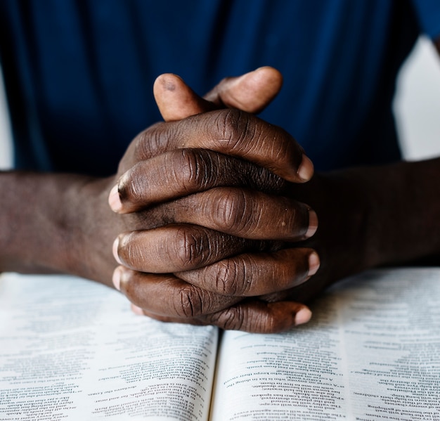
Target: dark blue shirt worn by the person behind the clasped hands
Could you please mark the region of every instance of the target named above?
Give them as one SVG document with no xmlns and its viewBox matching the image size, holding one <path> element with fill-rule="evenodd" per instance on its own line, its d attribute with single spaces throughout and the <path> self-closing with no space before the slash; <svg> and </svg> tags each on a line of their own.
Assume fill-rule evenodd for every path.
<svg viewBox="0 0 440 421">
<path fill-rule="evenodd" d="M 440 1 L 2 0 L 15 164 L 115 173 L 160 119 L 157 75 L 202 94 L 262 65 L 285 83 L 261 117 L 318 170 L 399 160 L 394 84 L 420 32 L 440 35 Z"/>
</svg>

